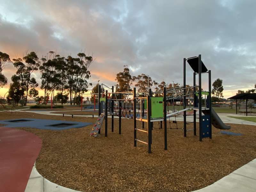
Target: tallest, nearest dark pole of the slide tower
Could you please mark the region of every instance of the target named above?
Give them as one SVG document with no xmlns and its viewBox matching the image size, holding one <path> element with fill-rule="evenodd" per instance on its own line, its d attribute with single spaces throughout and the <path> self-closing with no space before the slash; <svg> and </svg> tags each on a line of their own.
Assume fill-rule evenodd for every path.
<svg viewBox="0 0 256 192">
<path fill-rule="evenodd" d="M 198 98 L 198 109 L 199 109 L 199 140 L 202 141 L 202 62 L 201 55 L 198 55 L 198 88 L 199 88 L 199 98 Z"/>
</svg>

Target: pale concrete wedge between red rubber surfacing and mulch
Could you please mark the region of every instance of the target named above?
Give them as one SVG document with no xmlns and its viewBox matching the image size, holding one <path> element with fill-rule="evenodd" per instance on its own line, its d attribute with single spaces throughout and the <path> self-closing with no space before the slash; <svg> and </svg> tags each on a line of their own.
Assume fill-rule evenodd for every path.
<svg viewBox="0 0 256 192">
<path fill-rule="evenodd" d="M 62 187 L 45 179 L 36 170 L 36 163 L 33 166 L 25 192 L 79 192 L 73 189 Z"/>
</svg>

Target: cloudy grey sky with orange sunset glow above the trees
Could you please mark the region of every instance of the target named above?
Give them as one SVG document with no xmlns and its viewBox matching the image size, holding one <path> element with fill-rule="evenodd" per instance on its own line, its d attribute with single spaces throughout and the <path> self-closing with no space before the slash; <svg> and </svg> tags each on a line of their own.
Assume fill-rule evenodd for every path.
<svg viewBox="0 0 256 192">
<path fill-rule="evenodd" d="M 223 79 L 225 98 L 256 83 L 254 0 L 0 2 L 0 51 L 12 59 L 26 51 L 42 57 L 85 50 L 96 58 L 89 81 L 111 86 L 124 65 L 132 75 L 182 84 L 183 58 L 202 54 L 212 81 Z M 3 70 L 8 83 L 14 73 L 12 64 Z"/>
</svg>

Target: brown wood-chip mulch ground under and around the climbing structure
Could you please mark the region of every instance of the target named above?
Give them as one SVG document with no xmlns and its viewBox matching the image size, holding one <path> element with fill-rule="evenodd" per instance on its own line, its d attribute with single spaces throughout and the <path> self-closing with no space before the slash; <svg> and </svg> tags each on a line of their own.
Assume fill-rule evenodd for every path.
<svg viewBox="0 0 256 192">
<path fill-rule="evenodd" d="M 1 113 L 0 119 L 56 119 L 95 123 L 92 117 L 49 116 L 17 112 Z M 62 131 L 20 128 L 43 140 L 36 168 L 46 179 L 80 191 L 193 191 L 206 187 L 256 158 L 256 126 L 230 124 L 232 132 L 242 136 L 220 134 L 212 128 L 212 140 L 203 139 L 182 129 L 168 129 L 168 150 L 164 150 L 164 130 L 154 129 L 152 154 L 147 145 L 133 147 L 133 120 L 108 119 L 108 137 L 89 136 L 92 126 Z M 104 133 L 104 121 L 102 132 Z M 183 122 L 178 122 L 182 127 Z M 173 128 L 175 124 L 171 123 Z M 137 121 L 137 127 L 141 123 Z M 158 124 L 154 123 L 158 128 Z M 168 122 L 169 128 L 169 122 Z M 188 129 L 192 128 L 188 124 Z M 147 134 L 138 132 L 138 139 L 147 141 Z"/>
</svg>

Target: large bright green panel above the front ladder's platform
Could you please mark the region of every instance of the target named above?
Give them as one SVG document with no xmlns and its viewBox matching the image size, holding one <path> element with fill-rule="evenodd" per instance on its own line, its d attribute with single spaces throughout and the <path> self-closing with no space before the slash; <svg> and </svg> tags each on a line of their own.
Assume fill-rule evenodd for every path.
<svg viewBox="0 0 256 192">
<path fill-rule="evenodd" d="M 151 118 L 164 117 L 163 97 L 151 97 Z"/>
</svg>

